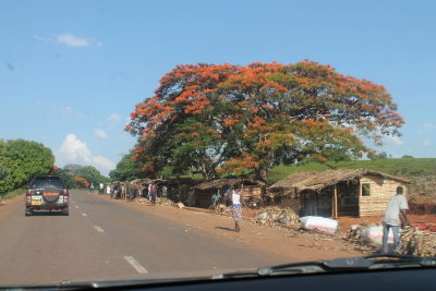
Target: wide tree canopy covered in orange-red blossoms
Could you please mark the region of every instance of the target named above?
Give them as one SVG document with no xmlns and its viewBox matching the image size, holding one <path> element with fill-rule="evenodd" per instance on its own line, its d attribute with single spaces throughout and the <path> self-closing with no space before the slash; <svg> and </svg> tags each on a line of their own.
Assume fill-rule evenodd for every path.
<svg viewBox="0 0 436 291">
<path fill-rule="evenodd" d="M 193 167 L 211 179 L 253 169 L 266 181 L 272 165 L 326 162 L 331 149 L 372 153 L 360 137 L 380 145 L 383 135 L 400 135 L 396 111 L 384 86 L 308 60 L 198 63 L 164 75 L 126 131 L 138 136 L 133 158 L 146 174 Z"/>
</svg>

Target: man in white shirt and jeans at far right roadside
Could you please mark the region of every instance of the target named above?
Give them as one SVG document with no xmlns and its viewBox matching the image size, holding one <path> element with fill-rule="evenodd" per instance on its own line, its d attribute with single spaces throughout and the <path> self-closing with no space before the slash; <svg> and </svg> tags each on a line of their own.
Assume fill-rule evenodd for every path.
<svg viewBox="0 0 436 291">
<path fill-rule="evenodd" d="M 383 246 L 382 254 L 388 253 L 388 235 L 389 229 L 393 232 L 393 252 L 400 244 L 400 223 L 410 225 L 405 210 L 409 209 L 408 201 L 402 196 L 402 186 L 397 187 L 397 194 L 390 197 L 388 207 L 382 220 L 383 223 Z"/>
</svg>

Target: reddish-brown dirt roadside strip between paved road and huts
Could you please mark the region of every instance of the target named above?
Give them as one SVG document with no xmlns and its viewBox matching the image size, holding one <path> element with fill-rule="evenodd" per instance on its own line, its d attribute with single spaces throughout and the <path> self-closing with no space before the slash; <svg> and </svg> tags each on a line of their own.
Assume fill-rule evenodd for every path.
<svg viewBox="0 0 436 291">
<path fill-rule="evenodd" d="M 94 194 L 98 195 L 98 194 Z M 101 198 L 110 199 L 108 195 Z M 243 243 L 259 251 L 274 252 L 292 260 L 319 260 L 337 257 L 353 257 L 368 255 L 372 252 L 354 244 L 346 243 L 340 234 L 327 234 L 319 231 L 298 231 L 295 229 L 280 227 L 278 223 L 259 226 L 251 221 L 257 210 L 243 210 L 244 221 L 241 232 L 235 232 L 234 220 L 230 215 L 220 215 L 211 210 L 184 207 L 182 209 L 170 206 L 152 206 L 149 203 L 136 203 L 121 199 L 112 199 L 113 203 L 153 213 L 165 217 L 190 229 L 201 230 L 208 235 L 221 237 L 237 243 Z"/>
</svg>

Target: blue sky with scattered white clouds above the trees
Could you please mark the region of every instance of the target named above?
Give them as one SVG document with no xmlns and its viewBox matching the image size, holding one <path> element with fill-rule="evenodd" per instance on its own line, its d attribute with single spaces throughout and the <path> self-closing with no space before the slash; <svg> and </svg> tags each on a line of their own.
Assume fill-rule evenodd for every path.
<svg viewBox="0 0 436 291">
<path fill-rule="evenodd" d="M 178 64 L 330 64 L 384 85 L 405 124 L 375 147 L 436 157 L 436 1 L 2 1 L 0 138 L 108 175 L 123 129 Z"/>
</svg>

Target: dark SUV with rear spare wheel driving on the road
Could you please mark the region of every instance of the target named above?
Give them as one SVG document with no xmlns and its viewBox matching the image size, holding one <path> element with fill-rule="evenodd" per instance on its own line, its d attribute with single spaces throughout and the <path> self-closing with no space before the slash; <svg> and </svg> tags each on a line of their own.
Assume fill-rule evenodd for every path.
<svg viewBox="0 0 436 291">
<path fill-rule="evenodd" d="M 35 210 L 62 210 L 69 215 L 70 193 L 62 178 L 58 175 L 35 177 L 26 192 L 25 216 Z"/>
</svg>

